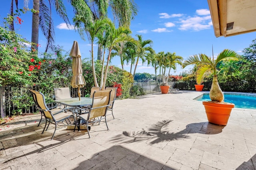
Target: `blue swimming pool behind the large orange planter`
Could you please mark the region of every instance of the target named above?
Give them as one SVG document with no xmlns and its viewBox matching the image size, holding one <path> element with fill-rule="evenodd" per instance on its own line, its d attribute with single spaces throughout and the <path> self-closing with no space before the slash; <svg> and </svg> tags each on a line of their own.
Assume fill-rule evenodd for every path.
<svg viewBox="0 0 256 170">
<path fill-rule="evenodd" d="M 210 101 L 210 96 L 205 93 L 194 100 Z M 233 103 L 236 108 L 256 109 L 256 96 L 253 95 L 224 93 L 224 102 Z"/>
</svg>

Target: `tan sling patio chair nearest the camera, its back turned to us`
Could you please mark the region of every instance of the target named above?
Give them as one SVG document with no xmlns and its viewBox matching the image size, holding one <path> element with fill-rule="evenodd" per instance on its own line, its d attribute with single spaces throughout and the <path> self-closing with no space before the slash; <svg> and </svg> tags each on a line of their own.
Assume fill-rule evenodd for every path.
<svg viewBox="0 0 256 170">
<path fill-rule="evenodd" d="M 77 119 L 82 119 L 84 120 L 86 124 L 86 129 L 88 129 L 88 135 L 90 138 L 90 133 L 88 128 L 88 124 L 93 124 L 97 121 L 100 122 L 100 120 L 105 119 L 106 126 L 108 129 L 108 124 L 106 120 L 106 113 L 108 111 L 108 106 L 110 106 L 110 93 L 112 90 L 100 90 L 100 91 L 94 91 L 92 95 L 92 106 L 88 107 L 88 114 L 82 114 L 78 115 Z M 100 119 L 94 120 L 94 118 L 100 117 Z M 76 119 L 76 122 L 77 122 Z M 76 127 L 75 127 L 76 128 Z"/>
</svg>

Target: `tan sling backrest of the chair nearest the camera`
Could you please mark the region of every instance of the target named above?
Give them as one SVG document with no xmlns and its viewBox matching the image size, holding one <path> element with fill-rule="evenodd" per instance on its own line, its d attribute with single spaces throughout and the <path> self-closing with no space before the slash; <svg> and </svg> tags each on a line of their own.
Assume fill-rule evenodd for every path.
<svg viewBox="0 0 256 170">
<path fill-rule="evenodd" d="M 94 91 L 92 97 L 92 107 L 88 114 L 88 120 L 99 116 L 105 116 L 110 102 L 110 92 L 112 90 Z"/>
</svg>

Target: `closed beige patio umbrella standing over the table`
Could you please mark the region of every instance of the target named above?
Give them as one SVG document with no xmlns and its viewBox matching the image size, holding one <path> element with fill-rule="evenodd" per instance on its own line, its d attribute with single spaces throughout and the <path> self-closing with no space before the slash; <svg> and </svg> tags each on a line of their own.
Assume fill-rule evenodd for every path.
<svg viewBox="0 0 256 170">
<path fill-rule="evenodd" d="M 73 61 L 72 61 L 73 76 L 71 79 L 71 86 L 72 88 L 78 88 L 78 97 L 79 97 L 79 100 L 81 100 L 80 88 L 84 87 L 84 85 L 86 85 L 86 82 L 82 75 L 83 69 L 82 69 L 81 53 L 80 53 L 77 41 L 74 41 L 69 55 L 73 57 Z"/>
</svg>

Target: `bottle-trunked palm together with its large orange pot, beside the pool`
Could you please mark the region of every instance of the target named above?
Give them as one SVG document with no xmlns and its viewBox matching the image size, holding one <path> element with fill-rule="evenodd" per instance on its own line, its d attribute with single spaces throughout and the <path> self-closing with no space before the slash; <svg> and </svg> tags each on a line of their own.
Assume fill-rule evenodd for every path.
<svg viewBox="0 0 256 170">
<path fill-rule="evenodd" d="M 199 54 L 190 56 L 183 63 L 183 68 L 190 64 L 200 65 L 196 72 L 197 84 L 202 82 L 203 76 L 207 71 L 212 71 L 213 73 L 212 86 L 209 94 L 211 101 L 203 102 L 206 115 L 210 123 L 216 125 L 227 125 L 231 110 L 234 108 L 234 104 L 224 102 L 224 94 L 218 84 L 216 65 L 220 61 L 238 59 L 239 55 L 235 51 L 224 49 L 218 54 L 216 59 L 214 59 L 214 57 L 208 57 L 205 54 Z"/>
</svg>

